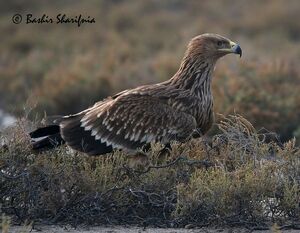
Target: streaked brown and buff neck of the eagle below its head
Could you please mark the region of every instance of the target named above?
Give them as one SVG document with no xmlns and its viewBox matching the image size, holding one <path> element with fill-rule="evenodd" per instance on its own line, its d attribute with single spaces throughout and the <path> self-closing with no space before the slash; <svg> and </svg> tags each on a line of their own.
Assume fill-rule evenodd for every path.
<svg viewBox="0 0 300 233">
<path fill-rule="evenodd" d="M 190 90 L 198 97 L 211 96 L 211 80 L 215 62 L 184 57 L 176 74 L 169 80 L 176 88 Z"/>
</svg>

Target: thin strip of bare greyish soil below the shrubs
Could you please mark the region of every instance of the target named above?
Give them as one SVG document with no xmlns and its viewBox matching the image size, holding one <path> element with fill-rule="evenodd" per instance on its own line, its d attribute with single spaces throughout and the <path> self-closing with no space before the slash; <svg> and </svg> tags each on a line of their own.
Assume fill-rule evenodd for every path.
<svg viewBox="0 0 300 233">
<path fill-rule="evenodd" d="M 43 233 L 246 233 L 246 232 L 276 232 L 273 230 L 267 231 L 250 231 L 248 229 L 233 228 L 233 229 L 215 229 L 215 228 L 201 228 L 201 229 L 161 229 L 161 228 L 140 228 L 140 227 L 80 227 L 72 228 L 68 226 L 36 226 L 36 229 L 13 226 L 9 229 L 9 233 L 25 233 L 25 232 L 43 232 Z M 280 231 L 279 231 L 280 232 Z M 298 230 L 282 230 L 285 233 L 297 233 Z"/>
</svg>

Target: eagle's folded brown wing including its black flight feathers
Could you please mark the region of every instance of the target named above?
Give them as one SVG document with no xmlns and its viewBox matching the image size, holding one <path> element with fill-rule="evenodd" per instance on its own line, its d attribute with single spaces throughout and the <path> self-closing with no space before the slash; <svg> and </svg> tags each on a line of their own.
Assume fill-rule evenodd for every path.
<svg viewBox="0 0 300 233">
<path fill-rule="evenodd" d="M 193 116 L 173 109 L 165 100 L 138 93 L 109 99 L 61 123 L 67 144 L 90 155 L 185 139 L 195 128 Z"/>
</svg>

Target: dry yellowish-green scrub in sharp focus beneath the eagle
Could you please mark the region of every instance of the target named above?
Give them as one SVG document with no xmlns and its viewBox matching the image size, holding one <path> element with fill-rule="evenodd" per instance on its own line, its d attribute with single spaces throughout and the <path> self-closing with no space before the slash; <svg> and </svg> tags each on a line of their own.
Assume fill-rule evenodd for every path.
<svg viewBox="0 0 300 233">
<path fill-rule="evenodd" d="M 33 154 L 23 128 L 13 129 L 0 153 L 1 212 L 15 223 L 299 227 L 295 141 L 265 142 L 238 115 L 219 128 L 210 143 L 173 144 L 166 158 L 153 145 L 150 166 L 140 170 L 122 152 L 87 157 L 60 147 Z"/>
</svg>

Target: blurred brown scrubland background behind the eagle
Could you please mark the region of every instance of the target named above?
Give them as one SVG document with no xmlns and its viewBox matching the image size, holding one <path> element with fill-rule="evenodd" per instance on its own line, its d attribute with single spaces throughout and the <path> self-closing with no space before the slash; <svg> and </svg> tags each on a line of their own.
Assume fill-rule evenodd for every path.
<svg viewBox="0 0 300 233">
<path fill-rule="evenodd" d="M 14 24 L 16 13 L 96 23 Z M 189 40 L 240 43 L 215 70 L 215 112 L 239 113 L 283 140 L 300 139 L 298 0 L 0 1 L 0 124 L 70 114 L 126 88 L 169 79 Z"/>
</svg>

